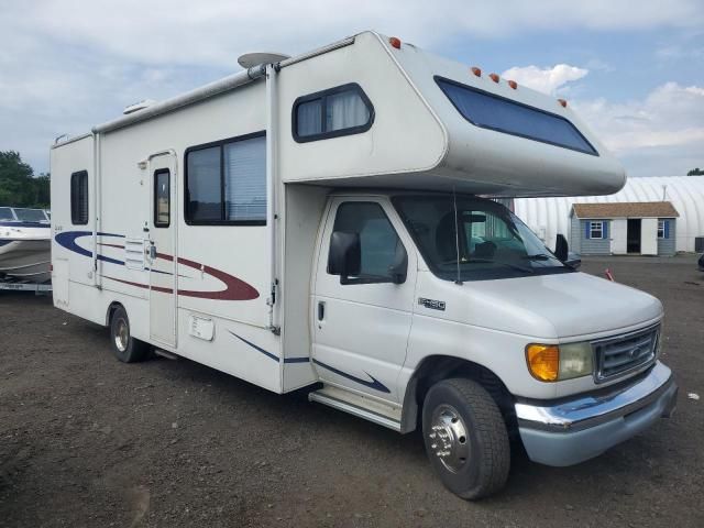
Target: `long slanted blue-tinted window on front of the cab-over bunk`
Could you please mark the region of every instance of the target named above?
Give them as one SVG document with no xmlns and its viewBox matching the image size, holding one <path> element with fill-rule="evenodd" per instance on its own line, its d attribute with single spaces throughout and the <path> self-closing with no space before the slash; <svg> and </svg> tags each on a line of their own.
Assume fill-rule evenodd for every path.
<svg viewBox="0 0 704 528">
<path fill-rule="evenodd" d="M 476 127 L 598 156 L 576 127 L 561 116 L 442 77 L 436 77 L 436 82 Z"/>
</svg>

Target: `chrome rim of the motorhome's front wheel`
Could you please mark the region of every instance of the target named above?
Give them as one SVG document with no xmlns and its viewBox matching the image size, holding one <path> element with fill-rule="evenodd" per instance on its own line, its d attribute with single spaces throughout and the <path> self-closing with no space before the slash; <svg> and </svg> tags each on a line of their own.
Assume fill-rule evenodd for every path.
<svg viewBox="0 0 704 528">
<path fill-rule="evenodd" d="M 462 416 L 451 405 L 442 404 L 436 407 L 430 424 L 430 454 L 448 471 L 459 472 L 470 461 L 470 436 Z"/>
</svg>

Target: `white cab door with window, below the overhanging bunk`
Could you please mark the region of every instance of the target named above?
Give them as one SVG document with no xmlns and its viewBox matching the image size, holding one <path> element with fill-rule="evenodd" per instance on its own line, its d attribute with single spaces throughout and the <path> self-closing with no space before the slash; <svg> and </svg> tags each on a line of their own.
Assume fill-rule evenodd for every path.
<svg viewBox="0 0 704 528">
<path fill-rule="evenodd" d="M 399 402 L 397 378 L 410 333 L 417 264 L 415 253 L 407 251 L 406 279 L 392 282 L 389 266 L 413 246 L 387 208 L 337 199 L 329 210 L 312 295 L 312 360 L 323 382 Z M 360 234 L 361 273 L 349 284 L 328 273 L 333 230 Z"/>
</svg>

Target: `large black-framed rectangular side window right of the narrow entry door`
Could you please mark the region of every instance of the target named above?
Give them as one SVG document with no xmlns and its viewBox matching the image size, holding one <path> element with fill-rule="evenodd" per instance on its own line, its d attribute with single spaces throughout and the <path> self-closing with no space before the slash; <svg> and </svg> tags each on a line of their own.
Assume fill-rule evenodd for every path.
<svg viewBox="0 0 704 528">
<path fill-rule="evenodd" d="M 264 133 L 195 146 L 186 151 L 186 223 L 266 223 L 266 138 Z"/>
</svg>

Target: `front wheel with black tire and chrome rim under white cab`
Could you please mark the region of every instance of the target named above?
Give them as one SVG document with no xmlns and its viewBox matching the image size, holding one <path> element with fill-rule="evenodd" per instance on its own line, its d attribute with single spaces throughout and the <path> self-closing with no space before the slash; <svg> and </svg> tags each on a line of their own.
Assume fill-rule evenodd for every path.
<svg viewBox="0 0 704 528">
<path fill-rule="evenodd" d="M 475 499 L 504 487 L 510 468 L 508 431 L 480 384 L 453 378 L 430 387 L 422 433 L 430 463 L 452 493 Z"/>
</svg>

